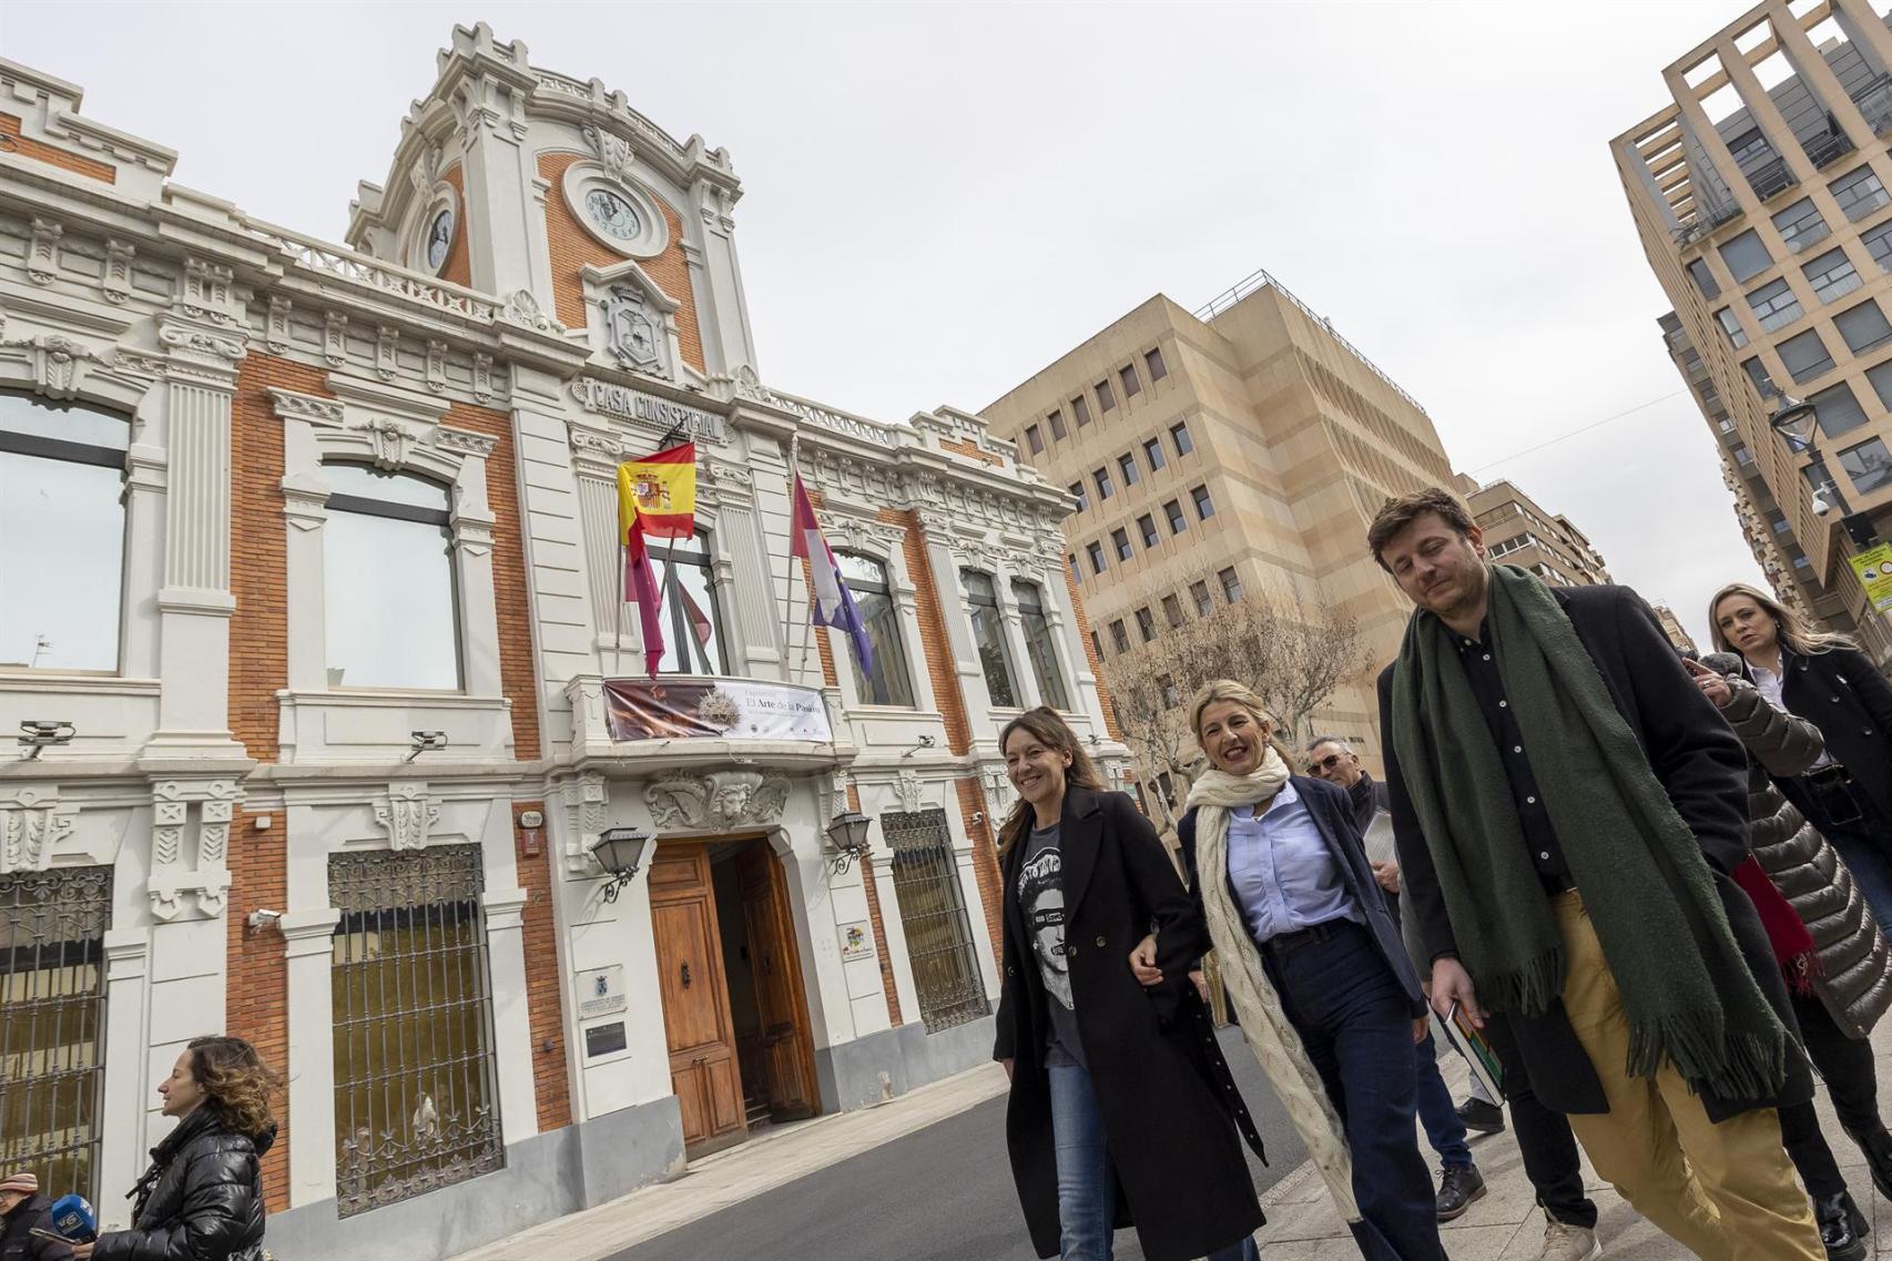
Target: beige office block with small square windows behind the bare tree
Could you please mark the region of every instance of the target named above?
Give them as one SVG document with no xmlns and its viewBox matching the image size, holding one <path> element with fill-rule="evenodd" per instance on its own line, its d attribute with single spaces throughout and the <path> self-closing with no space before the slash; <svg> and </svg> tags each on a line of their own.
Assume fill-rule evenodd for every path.
<svg viewBox="0 0 1892 1261">
<path fill-rule="evenodd" d="M 1366 526 L 1453 471 L 1425 409 L 1324 318 L 1268 273 L 1194 314 L 1158 293 L 984 415 L 1077 500 L 1067 560 L 1103 657 L 1247 591 L 1341 608 L 1372 665 L 1313 721 L 1377 754 L 1372 680 L 1410 604 Z"/>
</svg>

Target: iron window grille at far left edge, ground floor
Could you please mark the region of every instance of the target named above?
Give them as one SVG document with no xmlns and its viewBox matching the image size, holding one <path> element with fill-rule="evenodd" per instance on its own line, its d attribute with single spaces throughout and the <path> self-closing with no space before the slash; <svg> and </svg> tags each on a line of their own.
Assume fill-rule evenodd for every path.
<svg viewBox="0 0 1892 1261">
<path fill-rule="evenodd" d="M 0 877 L 0 1170 L 98 1200 L 112 869 Z"/>
</svg>

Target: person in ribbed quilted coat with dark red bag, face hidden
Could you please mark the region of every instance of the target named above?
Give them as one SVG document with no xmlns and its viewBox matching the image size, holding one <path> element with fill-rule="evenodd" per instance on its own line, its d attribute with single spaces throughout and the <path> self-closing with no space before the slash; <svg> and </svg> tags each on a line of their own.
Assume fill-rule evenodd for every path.
<svg viewBox="0 0 1892 1261">
<path fill-rule="evenodd" d="M 1748 892 L 1756 894 L 1775 952 L 1788 969 L 1801 1041 L 1826 1079 L 1839 1123 L 1866 1153 L 1873 1183 L 1892 1195 L 1892 1134 L 1879 1119 L 1879 1079 L 1867 1041 L 1879 1017 L 1892 1007 L 1892 950 L 1852 871 L 1778 782 L 1813 767 L 1824 738 L 1811 721 L 1761 695 L 1735 653 L 1710 653 L 1701 665 L 1690 663 L 1690 672 L 1748 752 L 1754 860 L 1773 886 Z M 1741 875 L 1735 873 L 1737 880 Z M 1792 909 L 1794 922 L 1784 928 L 1778 918 L 1786 918 L 1786 907 L 1778 909 L 1778 918 L 1769 918 L 1778 907 L 1769 897 L 1773 892 Z M 1782 1108 L 1780 1132 L 1814 1200 L 1828 1255 L 1864 1257 L 1871 1234 L 1813 1106 Z"/>
</svg>

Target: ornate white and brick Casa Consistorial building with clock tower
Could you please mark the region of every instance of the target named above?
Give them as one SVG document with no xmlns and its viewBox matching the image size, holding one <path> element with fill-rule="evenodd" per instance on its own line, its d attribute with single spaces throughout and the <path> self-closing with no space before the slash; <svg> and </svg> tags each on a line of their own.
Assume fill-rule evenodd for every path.
<svg viewBox="0 0 1892 1261">
<path fill-rule="evenodd" d="M 1069 502 L 976 415 L 764 384 L 723 150 L 456 28 L 322 242 L 0 85 L 0 1164 L 123 1225 L 233 1032 L 274 1252 L 426 1259 L 990 1057 L 997 729 L 1126 767 Z M 651 680 L 613 475 L 679 435 Z"/>
</svg>

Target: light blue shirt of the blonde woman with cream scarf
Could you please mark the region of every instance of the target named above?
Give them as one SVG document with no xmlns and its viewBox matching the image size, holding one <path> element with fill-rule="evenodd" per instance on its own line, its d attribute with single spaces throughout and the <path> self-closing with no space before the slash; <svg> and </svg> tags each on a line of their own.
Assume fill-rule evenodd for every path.
<svg viewBox="0 0 1892 1261">
<path fill-rule="evenodd" d="M 1228 812 L 1228 879 L 1256 941 L 1362 918 L 1294 784 L 1283 784 L 1260 818 L 1254 807 Z"/>
</svg>

